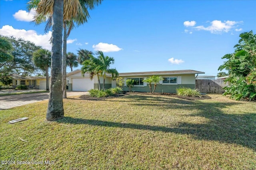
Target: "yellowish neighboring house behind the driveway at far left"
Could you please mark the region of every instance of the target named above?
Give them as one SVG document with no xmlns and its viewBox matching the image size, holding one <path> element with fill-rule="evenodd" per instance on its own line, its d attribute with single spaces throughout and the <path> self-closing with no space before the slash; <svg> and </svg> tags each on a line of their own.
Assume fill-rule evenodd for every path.
<svg viewBox="0 0 256 170">
<path fill-rule="evenodd" d="M 10 78 L 12 79 L 11 85 L 14 88 L 18 85 L 26 85 L 29 88 L 46 89 L 46 76 L 21 76 L 13 74 Z"/>
</svg>

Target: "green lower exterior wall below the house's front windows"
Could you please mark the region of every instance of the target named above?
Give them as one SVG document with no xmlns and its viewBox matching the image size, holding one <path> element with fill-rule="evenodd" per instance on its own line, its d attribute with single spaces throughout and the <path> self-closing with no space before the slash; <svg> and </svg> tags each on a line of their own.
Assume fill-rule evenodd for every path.
<svg viewBox="0 0 256 170">
<path fill-rule="evenodd" d="M 156 85 L 156 93 L 176 93 L 176 89 L 179 87 L 186 87 L 186 88 L 195 88 L 195 84 L 176 84 L 176 85 L 162 85 L 162 84 L 157 84 Z M 129 87 L 124 86 L 123 88 L 124 91 L 129 91 Z M 154 90 L 154 84 L 152 84 L 152 91 Z M 149 85 L 144 87 L 132 87 L 132 91 L 135 92 L 150 92 Z"/>
</svg>

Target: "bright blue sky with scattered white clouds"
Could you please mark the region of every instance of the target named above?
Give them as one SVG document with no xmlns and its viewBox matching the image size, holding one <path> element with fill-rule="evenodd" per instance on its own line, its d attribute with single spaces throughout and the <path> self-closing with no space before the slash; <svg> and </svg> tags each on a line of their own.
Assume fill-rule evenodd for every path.
<svg viewBox="0 0 256 170">
<path fill-rule="evenodd" d="M 0 34 L 50 49 L 51 31 L 30 23 L 34 12 L 28 13 L 27 2 L 0 0 Z M 105 0 L 90 17 L 72 30 L 67 51 L 102 50 L 114 57 L 118 72 L 191 69 L 216 76 L 239 34 L 256 33 L 253 0 Z"/>
</svg>

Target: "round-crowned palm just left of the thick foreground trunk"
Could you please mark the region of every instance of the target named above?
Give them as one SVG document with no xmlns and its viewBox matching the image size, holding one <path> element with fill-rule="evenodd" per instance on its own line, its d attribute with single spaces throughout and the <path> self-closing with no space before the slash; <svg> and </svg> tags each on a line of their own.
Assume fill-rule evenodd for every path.
<svg viewBox="0 0 256 170">
<path fill-rule="evenodd" d="M 51 66 L 51 52 L 46 49 L 39 49 L 33 53 L 33 62 L 46 74 L 46 90 L 49 90 L 49 67 Z"/>
</svg>

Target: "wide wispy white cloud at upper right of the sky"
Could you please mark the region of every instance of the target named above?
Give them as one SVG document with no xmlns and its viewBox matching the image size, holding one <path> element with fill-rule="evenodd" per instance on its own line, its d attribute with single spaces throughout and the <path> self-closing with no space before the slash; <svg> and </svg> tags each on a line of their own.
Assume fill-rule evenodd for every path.
<svg viewBox="0 0 256 170">
<path fill-rule="evenodd" d="M 204 27 L 203 25 L 195 27 L 198 30 L 206 30 L 210 31 L 211 33 L 222 33 L 222 32 L 229 32 L 235 25 L 243 23 L 243 21 L 218 21 L 214 20 L 211 22 L 211 25 L 208 27 Z"/>
</svg>

